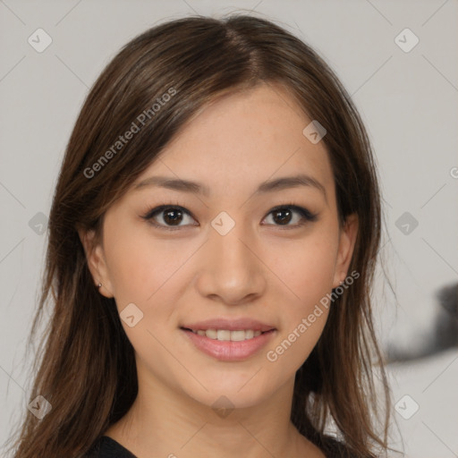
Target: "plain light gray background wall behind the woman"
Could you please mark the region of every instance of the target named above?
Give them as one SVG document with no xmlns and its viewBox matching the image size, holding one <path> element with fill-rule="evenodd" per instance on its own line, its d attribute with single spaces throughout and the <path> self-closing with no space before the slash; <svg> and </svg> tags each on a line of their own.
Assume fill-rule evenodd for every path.
<svg viewBox="0 0 458 458">
<path fill-rule="evenodd" d="M 64 148 L 98 74 L 127 41 L 193 13 L 253 11 L 325 57 L 360 110 L 385 199 L 386 270 L 377 332 L 385 348 L 428 344 L 434 294 L 457 281 L 458 3 L 439 1 L 0 1 L 0 441 L 27 408 L 33 354 L 25 341 L 39 292 L 46 218 Z M 38 53 L 38 28 L 52 43 Z M 409 28 L 410 52 L 395 42 Z M 404 34 L 405 35 L 405 34 Z M 401 39 L 409 46 L 412 41 Z M 41 43 L 43 41 L 41 40 Z M 399 220 L 414 218 L 406 232 Z M 406 217 L 406 216 L 403 216 Z M 397 224 L 396 224 L 397 222 Z M 399 227 L 398 227 L 399 226 Z M 401 228 L 400 228 L 401 227 Z M 458 351 L 390 364 L 406 456 L 458 456 Z M 408 398 L 403 398 L 404 395 Z M 419 410 L 409 420 L 404 417 Z M 400 408 L 401 407 L 401 408 Z M 407 413 L 406 413 L 407 412 Z M 402 447 L 399 437 L 393 445 Z"/>
</svg>

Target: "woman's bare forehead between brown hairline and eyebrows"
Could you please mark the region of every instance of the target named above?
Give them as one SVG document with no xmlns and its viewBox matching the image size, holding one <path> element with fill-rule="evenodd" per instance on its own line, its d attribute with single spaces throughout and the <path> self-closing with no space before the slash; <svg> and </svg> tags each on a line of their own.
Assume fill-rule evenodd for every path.
<svg viewBox="0 0 458 458">
<path fill-rule="evenodd" d="M 269 178 L 308 174 L 331 192 L 325 144 L 302 133 L 310 122 L 278 85 L 225 95 L 204 106 L 137 183 L 160 174 L 201 182 L 221 197 L 229 190 L 250 193 Z"/>
</svg>

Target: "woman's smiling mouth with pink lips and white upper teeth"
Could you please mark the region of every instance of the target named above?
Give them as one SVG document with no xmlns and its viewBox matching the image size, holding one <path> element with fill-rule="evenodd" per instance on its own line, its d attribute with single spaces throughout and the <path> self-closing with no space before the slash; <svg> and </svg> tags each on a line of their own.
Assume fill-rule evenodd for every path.
<svg viewBox="0 0 458 458">
<path fill-rule="evenodd" d="M 275 327 L 247 320 L 213 320 L 180 329 L 194 348 L 222 361 L 247 360 L 276 335 Z"/>
</svg>

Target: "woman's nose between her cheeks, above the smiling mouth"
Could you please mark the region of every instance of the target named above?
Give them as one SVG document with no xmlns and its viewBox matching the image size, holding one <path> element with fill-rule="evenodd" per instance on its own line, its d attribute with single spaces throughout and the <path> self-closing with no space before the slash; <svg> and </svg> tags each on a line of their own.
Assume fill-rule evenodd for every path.
<svg viewBox="0 0 458 458">
<path fill-rule="evenodd" d="M 199 250 L 199 293 L 228 305 L 260 297 L 267 286 L 267 268 L 242 225 L 234 225 L 225 235 L 211 228 L 208 237 L 204 250 Z"/>
</svg>

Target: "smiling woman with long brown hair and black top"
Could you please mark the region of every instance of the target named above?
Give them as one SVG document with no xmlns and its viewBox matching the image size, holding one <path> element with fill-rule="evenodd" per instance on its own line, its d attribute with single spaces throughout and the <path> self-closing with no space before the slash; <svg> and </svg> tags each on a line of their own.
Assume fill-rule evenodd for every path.
<svg viewBox="0 0 458 458">
<path fill-rule="evenodd" d="M 66 150 L 14 456 L 385 454 L 380 220 L 360 116 L 301 40 L 246 15 L 134 38 Z"/>
</svg>

